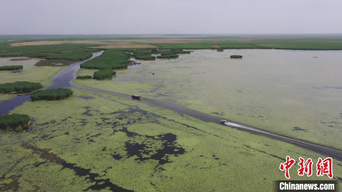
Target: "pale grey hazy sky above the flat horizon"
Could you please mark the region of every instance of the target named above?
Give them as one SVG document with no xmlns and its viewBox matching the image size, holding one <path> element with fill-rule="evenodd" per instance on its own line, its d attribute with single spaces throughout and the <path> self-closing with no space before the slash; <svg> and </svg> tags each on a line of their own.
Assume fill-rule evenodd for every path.
<svg viewBox="0 0 342 192">
<path fill-rule="evenodd" d="M 342 0 L 0 0 L 0 35 L 342 33 Z"/>
</svg>

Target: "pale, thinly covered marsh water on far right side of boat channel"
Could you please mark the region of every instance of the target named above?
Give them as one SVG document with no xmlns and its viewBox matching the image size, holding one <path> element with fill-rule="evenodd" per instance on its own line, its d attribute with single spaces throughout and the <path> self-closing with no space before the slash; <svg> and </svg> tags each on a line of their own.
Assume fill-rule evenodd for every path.
<svg viewBox="0 0 342 192">
<path fill-rule="evenodd" d="M 229 59 L 235 54 L 243 59 Z M 341 57 L 342 51 L 193 50 L 176 60 L 139 61 L 111 81 L 76 83 L 175 102 L 342 149 Z"/>
</svg>

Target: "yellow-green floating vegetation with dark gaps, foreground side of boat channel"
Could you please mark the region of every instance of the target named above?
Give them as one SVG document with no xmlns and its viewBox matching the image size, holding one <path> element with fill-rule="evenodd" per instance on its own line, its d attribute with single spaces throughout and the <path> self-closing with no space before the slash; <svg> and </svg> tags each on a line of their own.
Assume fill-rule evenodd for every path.
<svg viewBox="0 0 342 192">
<path fill-rule="evenodd" d="M 26 102 L 13 111 L 35 121 L 27 131 L 0 134 L 0 190 L 259 192 L 284 179 L 278 167 L 286 155 L 320 156 L 141 102 L 73 91 L 94 99 Z M 341 177 L 338 164 L 334 176 Z M 327 179 L 300 177 L 294 168 L 290 174 Z"/>
</svg>

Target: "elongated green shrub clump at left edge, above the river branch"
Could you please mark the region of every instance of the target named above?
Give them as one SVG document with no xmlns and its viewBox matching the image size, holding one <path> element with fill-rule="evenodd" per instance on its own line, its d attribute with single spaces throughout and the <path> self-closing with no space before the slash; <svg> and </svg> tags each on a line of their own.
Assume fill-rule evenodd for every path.
<svg viewBox="0 0 342 192">
<path fill-rule="evenodd" d="M 0 93 L 12 93 L 12 92 L 30 93 L 42 87 L 43 86 L 40 83 L 17 81 L 15 83 L 0 84 Z"/>
</svg>

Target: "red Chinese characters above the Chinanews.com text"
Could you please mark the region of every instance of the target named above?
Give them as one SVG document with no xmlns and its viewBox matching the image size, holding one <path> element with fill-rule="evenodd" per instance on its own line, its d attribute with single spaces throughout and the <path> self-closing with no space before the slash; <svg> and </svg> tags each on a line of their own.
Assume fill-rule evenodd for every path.
<svg viewBox="0 0 342 192">
<path fill-rule="evenodd" d="M 286 162 L 280 164 L 279 169 L 280 171 L 285 171 L 285 177 L 287 179 L 290 179 L 289 170 L 295 163 L 296 161 L 294 159 L 286 156 Z M 299 157 L 298 165 L 299 169 L 297 171 L 299 176 L 303 176 L 304 174 L 306 174 L 308 177 L 310 177 L 312 175 L 312 159 L 308 158 L 305 161 L 305 159 Z M 333 159 L 331 157 L 327 157 L 323 160 L 319 158 L 316 164 L 316 171 L 317 176 L 327 175 L 329 178 L 333 178 Z"/>
</svg>

